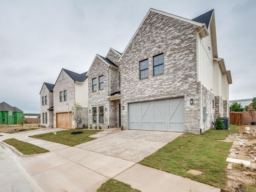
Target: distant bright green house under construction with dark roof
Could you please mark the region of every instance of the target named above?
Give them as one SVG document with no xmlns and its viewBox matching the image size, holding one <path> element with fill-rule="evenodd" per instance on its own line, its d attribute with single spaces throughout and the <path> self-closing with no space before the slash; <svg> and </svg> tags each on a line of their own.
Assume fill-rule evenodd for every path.
<svg viewBox="0 0 256 192">
<path fill-rule="evenodd" d="M 0 124 L 17 124 L 17 120 L 23 116 L 23 111 L 17 107 L 2 102 L 0 103 Z"/>
</svg>

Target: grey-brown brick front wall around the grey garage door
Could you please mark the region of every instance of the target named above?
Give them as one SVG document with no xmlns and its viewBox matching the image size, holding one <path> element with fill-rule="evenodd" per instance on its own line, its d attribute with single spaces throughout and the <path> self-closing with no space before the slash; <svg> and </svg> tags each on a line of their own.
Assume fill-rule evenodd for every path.
<svg viewBox="0 0 256 192">
<path fill-rule="evenodd" d="M 153 76 L 153 56 L 164 53 L 164 74 Z M 139 61 L 148 58 L 147 79 Z M 200 94 L 196 76 L 196 26 L 150 12 L 119 62 L 121 124 L 128 128 L 128 103 L 184 96 L 185 131 L 200 132 Z M 193 98 L 194 104 L 190 105 Z"/>
</svg>

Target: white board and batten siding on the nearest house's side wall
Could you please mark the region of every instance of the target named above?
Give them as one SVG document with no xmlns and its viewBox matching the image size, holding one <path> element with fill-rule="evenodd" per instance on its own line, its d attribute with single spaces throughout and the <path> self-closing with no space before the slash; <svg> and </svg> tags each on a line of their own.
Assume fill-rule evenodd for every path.
<svg viewBox="0 0 256 192">
<path fill-rule="evenodd" d="M 213 90 L 213 55 L 211 29 L 208 28 L 209 36 L 200 38 L 197 36 L 197 81 L 209 91 Z M 210 47 L 210 50 L 209 50 Z"/>
</svg>

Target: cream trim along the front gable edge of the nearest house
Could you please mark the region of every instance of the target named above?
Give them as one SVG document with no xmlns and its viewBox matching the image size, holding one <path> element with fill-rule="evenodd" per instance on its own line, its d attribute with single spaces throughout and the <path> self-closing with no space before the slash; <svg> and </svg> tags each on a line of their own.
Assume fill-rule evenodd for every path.
<svg viewBox="0 0 256 192">
<path fill-rule="evenodd" d="M 126 46 L 126 48 L 124 49 L 124 52 L 127 50 L 127 48 L 129 47 L 129 45 L 131 44 L 133 38 L 135 37 L 135 35 L 137 34 L 137 32 L 139 31 L 140 27 L 142 26 L 142 24 L 144 23 L 144 21 L 146 20 L 146 18 L 148 17 L 149 13 L 150 12 L 156 12 L 156 13 L 159 13 L 159 14 L 162 14 L 162 15 L 165 15 L 165 16 L 168 16 L 168 17 L 171 17 L 171 18 L 174 18 L 174 19 L 178 19 L 178 20 L 181 20 L 181 21 L 184 21 L 184 22 L 188 22 L 188 23 L 191 23 L 193 25 L 196 25 L 198 27 L 202 27 L 202 31 L 204 31 L 205 33 L 205 36 L 208 36 L 209 35 L 209 32 L 207 30 L 207 27 L 204 23 L 200 23 L 200 22 L 197 22 L 197 21 L 194 21 L 194 20 L 190 20 L 190 19 L 186 19 L 184 17 L 180 17 L 180 16 L 177 16 L 177 15 L 173 15 L 173 14 L 170 14 L 170 13 L 166 13 L 166 12 L 163 12 L 163 11 L 159 11 L 159 10 L 156 10 L 156 9 L 152 9 L 150 8 L 147 15 L 144 17 L 144 19 L 142 20 L 142 22 L 140 23 L 140 26 L 138 27 L 138 29 L 136 30 L 136 32 L 134 33 L 134 35 L 132 36 L 132 39 L 130 40 L 130 42 L 128 43 L 128 45 Z M 124 55 L 124 52 L 122 53 L 122 55 L 120 56 L 118 62 L 122 59 L 123 55 Z"/>
</svg>

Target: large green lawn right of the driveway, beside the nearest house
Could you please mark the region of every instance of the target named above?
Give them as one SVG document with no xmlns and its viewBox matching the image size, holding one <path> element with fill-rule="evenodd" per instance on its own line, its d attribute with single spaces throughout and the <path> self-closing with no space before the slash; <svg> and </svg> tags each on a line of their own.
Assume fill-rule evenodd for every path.
<svg viewBox="0 0 256 192">
<path fill-rule="evenodd" d="M 139 163 L 223 188 L 227 181 L 226 158 L 232 143 L 218 140 L 224 140 L 228 133 L 213 129 L 202 135 L 184 133 Z M 203 173 L 193 175 L 187 173 L 189 169 Z"/>
</svg>

